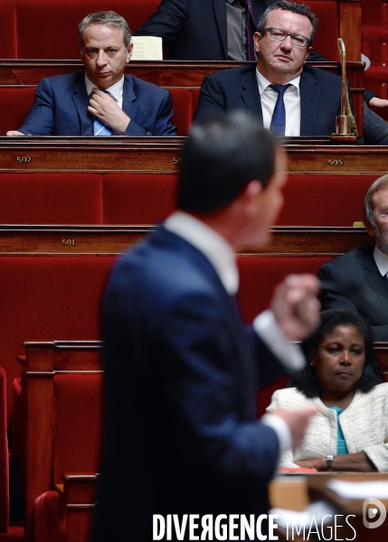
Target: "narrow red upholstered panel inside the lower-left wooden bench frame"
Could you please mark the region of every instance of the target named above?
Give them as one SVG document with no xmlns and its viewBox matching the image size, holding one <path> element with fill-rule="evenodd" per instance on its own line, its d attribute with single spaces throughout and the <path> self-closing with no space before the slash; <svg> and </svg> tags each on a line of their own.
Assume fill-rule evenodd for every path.
<svg viewBox="0 0 388 542">
<path fill-rule="evenodd" d="M 99 472 L 103 375 L 54 377 L 53 479 L 63 473 Z"/>
</svg>

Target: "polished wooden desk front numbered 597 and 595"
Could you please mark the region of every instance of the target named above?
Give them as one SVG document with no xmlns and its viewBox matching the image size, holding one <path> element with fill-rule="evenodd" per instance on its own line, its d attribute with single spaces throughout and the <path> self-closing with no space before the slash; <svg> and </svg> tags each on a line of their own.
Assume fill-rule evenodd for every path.
<svg viewBox="0 0 388 542">
<path fill-rule="evenodd" d="M 184 137 L 0 137 L 0 172 L 177 173 Z M 287 172 L 387 172 L 388 145 L 336 145 L 328 137 L 285 140 Z"/>
</svg>

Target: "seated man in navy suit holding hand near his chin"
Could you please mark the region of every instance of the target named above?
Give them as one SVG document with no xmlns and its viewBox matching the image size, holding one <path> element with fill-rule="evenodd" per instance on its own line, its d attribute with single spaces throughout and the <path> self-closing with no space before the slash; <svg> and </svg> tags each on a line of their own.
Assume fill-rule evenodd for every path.
<svg viewBox="0 0 388 542">
<path fill-rule="evenodd" d="M 7 135 L 176 135 L 168 90 L 124 75 L 133 44 L 123 17 L 87 15 L 79 40 L 86 73 L 43 79 L 23 126 Z"/>
</svg>

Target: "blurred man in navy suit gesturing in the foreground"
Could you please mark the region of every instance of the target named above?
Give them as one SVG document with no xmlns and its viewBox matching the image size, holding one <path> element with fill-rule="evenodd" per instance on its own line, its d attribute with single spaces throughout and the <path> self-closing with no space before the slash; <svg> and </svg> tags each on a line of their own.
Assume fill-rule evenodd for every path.
<svg viewBox="0 0 388 542">
<path fill-rule="evenodd" d="M 257 420 L 255 396 L 283 372 L 280 360 L 304 364 L 289 341 L 317 325 L 317 277 L 289 276 L 253 328 L 235 301 L 234 252 L 242 238 L 260 246 L 270 237 L 282 152 L 267 130 L 232 114 L 194 126 L 182 160 L 179 210 L 109 277 L 94 542 L 160 539 L 153 519 L 160 528 L 169 514 L 187 521 L 180 539 L 194 520 L 185 514 L 199 514 L 200 534 L 209 514 L 266 514 L 279 451 L 302 438 L 312 415 Z"/>
</svg>

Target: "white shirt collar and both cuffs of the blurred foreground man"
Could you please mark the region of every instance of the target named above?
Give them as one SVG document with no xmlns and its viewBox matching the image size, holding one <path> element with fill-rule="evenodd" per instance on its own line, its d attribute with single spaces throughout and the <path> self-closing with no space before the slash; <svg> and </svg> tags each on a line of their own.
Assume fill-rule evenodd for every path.
<svg viewBox="0 0 388 542">
<path fill-rule="evenodd" d="M 180 210 L 170 215 L 165 220 L 164 226 L 202 252 L 213 265 L 227 293 L 230 295 L 237 294 L 239 272 L 234 250 L 220 234 L 209 228 L 201 220 Z M 305 358 L 303 354 L 287 341 L 271 311 L 265 311 L 257 316 L 253 322 L 253 329 L 287 369 L 301 369 L 304 367 Z M 292 439 L 286 422 L 273 414 L 266 414 L 261 418 L 261 422 L 270 425 L 278 435 L 279 454 L 289 450 Z"/>
</svg>

